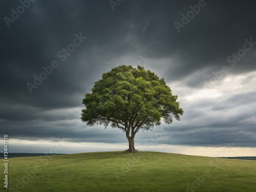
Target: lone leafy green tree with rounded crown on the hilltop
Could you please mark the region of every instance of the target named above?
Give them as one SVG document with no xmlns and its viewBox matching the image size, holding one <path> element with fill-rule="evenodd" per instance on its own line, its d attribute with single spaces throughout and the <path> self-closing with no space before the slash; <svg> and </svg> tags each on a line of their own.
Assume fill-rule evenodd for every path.
<svg viewBox="0 0 256 192">
<path fill-rule="evenodd" d="M 102 74 L 92 93 L 84 95 L 81 120 L 87 125 L 103 124 L 118 128 L 129 141 L 127 152 L 136 152 L 134 137 L 139 130 L 180 120 L 183 110 L 163 78 L 138 66 L 119 66 Z"/>
</svg>

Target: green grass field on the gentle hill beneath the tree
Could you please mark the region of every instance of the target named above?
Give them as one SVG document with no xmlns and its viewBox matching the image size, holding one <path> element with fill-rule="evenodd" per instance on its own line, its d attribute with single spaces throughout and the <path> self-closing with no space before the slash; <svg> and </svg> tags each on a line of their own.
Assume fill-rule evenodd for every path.
<svg viewBox="0 0 256 192">
<path fill-rule="evenodd" d="M 9 159 L 8 189 L 2 182 L 0 191 L 252 192 L 255 163 L 158 152 L 19 157 Z"/>
</svg>

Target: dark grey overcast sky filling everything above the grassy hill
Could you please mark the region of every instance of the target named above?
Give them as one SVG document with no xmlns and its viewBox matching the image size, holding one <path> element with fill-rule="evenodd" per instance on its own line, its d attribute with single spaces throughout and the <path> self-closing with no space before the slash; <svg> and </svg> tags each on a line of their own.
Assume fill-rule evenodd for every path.
<svg viewBox="0 0 256 192">
<path fill-rule="evenodd" d="M 256 156 L 255 1 L 21 2 L 0 3 L 9 152 L 126 150 L 120 130 L 80 120 L 82 99 L 102 73 L 141 65 L 165 79 L 184 115 L 140 131 L 137 150 Z"/>
</svg>

